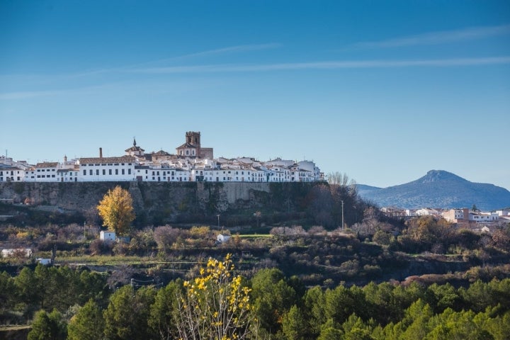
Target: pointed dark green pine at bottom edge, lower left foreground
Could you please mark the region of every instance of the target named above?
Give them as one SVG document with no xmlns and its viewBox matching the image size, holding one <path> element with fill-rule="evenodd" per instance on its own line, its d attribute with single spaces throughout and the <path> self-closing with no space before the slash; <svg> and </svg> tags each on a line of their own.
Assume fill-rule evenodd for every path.
<svg viewBox="0 0 510 340">
<path fill-rule="evenodd" d="M 101 339 L 104 319 L 101 309 L 94 300 L 89 300 L 79 309 L 67 325 L 69 340 Z"/>
</svg>

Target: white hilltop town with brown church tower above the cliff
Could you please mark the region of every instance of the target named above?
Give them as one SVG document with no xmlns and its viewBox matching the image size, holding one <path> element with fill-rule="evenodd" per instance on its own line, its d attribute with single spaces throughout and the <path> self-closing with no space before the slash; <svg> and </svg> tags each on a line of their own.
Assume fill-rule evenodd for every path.
<svg viewBox="0 0 510 340">
<path fill-rule="evenodd" d="M 211 147 L 200 145 L 200 132 L 186 132 L 186 142 L 176 154 L 164 150 L 145 153 L 133 139 L 132 147 L 119 157 L 87 157 L 64 162 L 28 164 L 0 157 L 0 181 L 13 182 L 313 182 L 324 174 L 311 161 L 273 159 L 259 162 L 251 157 L 214 158 Z"/>
</svg>

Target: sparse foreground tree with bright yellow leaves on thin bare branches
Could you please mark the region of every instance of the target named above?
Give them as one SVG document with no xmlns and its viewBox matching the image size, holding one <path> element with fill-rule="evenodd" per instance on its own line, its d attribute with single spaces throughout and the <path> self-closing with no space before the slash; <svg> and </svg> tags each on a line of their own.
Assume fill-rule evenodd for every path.
<svg viewBox="0 0 510 340">
<path fill-rule="evenodd" d="M 224 261 L 209 259 L 200 276 L 184 281 L 178 294 L 176 326 L 179 338 L 247 339 L 256 336 L 257 323 L 249 299 L 250 288 L 241 276 L 232 276 L 230 254 Z"/>
</svg>

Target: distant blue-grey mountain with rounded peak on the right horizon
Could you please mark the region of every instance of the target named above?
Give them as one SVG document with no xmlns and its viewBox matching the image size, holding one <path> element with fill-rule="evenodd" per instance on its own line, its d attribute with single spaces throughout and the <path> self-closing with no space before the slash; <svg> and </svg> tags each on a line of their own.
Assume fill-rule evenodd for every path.
<svg viewBox="0 0 510 340">
<path fill-rule="evenodd" d="M 377 188 L 358 185 L 361 198 L 381 207 L 471 208 L 496 210 L 510 206 L 510 191 L 486 183 L 473 183 L 443 170 L 431 170 L 420 179 L 399 186 Z"/>
</svg>

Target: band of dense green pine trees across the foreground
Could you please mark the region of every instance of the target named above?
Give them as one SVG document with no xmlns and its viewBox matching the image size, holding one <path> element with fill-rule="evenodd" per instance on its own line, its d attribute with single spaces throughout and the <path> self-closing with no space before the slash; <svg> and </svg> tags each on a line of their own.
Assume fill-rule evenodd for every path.
<svg viewBox="0 0 510 340">
<path fill-rule="evenodd" d="M 244 307 L 256 320 L 246 339 L 510 338 L 510 279 L 477 280 L 460 288 L 370 283 L 324 289 L 305 288 L 297 277 L 266 268 L 216 288 L 202 280 L 214 273 L 200 270 L 196 278 L 164 287 L 134 284 L 111 290 L 98 273 L 23 268 L 14 278 L 0 275 L 2 323 L 33 317 L 28 339 L 179 339 L 183 292 L 202 285 L 210 299 L 235 282 L 249 292 Z M 212 317 L 215 310 L 209 308 Z"/>
</svg>

